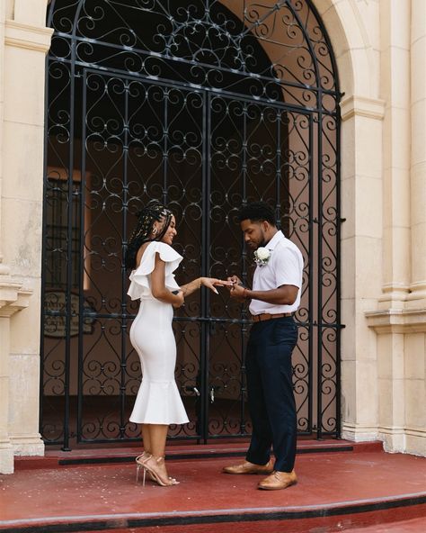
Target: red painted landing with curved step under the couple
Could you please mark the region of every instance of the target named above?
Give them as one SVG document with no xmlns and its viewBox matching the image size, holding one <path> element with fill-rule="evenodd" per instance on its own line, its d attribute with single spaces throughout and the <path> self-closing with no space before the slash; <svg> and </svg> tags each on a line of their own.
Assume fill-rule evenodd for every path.
<svg viewBox="0 0 426 533">
<path fill-rule="evenodd" d="M 0 531 L 151 533 L 161 527 L 164 533 L 324 533 L 352 528 L 354 533 L 374 526 L 371 533 L 382 533 L 386 524 L 392 533 L 426 530 L 426 459 L 371 446 L 354 449 L 301 453 L 299 483 L 276 492 L 256 490 L 262 477 L 221 474 L 223 465 L 241 459 L 215 452 L 234 450 L 236 455 L 241 452 L 236 445 L 214 447 L 200 458 L 173 447 L 169 474 L 181 484 L 166 488 L 152 482 L 136 485 L 136 468 L 126 462 L 129 450 L 111 450 L 111 457 L 124 461 L 102 465 L 58 465 L 63 454 L 50 452 L 44 460 L 19 461 L 15 474 L 0 476 Z M 90 459 L 95 451 L 72 455 Z M 107 460 L 108 452 L 102 453 Z M 413 528 L 402 528 L 407 520 Z M 401 529 L 392 529 L 391 522 Z"/>
</svg>

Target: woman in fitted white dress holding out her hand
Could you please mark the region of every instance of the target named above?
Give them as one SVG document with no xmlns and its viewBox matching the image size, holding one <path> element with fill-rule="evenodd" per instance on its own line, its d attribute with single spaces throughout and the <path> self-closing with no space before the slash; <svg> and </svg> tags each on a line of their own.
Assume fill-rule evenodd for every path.
<svg viewBox="0 0 426 533">
<path fill-rule="evenodd" d="M 217 294 L 215 285 L 228 282 L 199 277 L 181 287 L 173 272 L 182 261 L 173 248 L 176 236 L 173 213 L 162 203 L 153 201 L 138 216 L 129 239 L 126 267 L 132 269 L 129 296 L 140 299 L 138 316 L 130 328 L 130 341 L 140 358 L 143 379 L 130 421 L 142 424 L 144 453 L 136 458 L 153 481 L 161 486 L 178 482 L 167 475 L 164 448 L 169 424 L 188 422 L 174 381 L 176 343 L 173 336 L 173 308 L 181 307 L 201 285 Z"/>
</svg>

